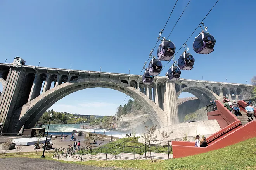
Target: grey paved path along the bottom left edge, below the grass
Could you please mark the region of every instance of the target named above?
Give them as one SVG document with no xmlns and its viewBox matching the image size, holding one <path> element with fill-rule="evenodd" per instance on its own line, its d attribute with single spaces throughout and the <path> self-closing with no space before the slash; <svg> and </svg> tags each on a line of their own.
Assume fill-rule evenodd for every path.
<svg viewBox="0 0 256 170">
<path fill-rule="evenodd" d="M 54 160 L 33 158 L 3 158 L 0 159 L 1 170 L 116 170 L 113 167 L 93 167 L 88 165 L 76 165 L 62 163 Z M 124 169 L 119 169 L 124 170 Z M 130 169 L 126 169 L 130 170 Z M 134 170 L 134 169 L 133 169 Z"/>
</svg>

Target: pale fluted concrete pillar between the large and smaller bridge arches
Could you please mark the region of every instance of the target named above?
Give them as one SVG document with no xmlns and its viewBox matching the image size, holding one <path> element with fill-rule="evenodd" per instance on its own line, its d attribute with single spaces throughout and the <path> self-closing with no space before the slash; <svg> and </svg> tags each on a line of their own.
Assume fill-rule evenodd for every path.
<svg viewBox="0 0 256 170">
<path fill-rule="evenodd" d="M 168 125 L 179 122 L 175 83 L 173 82 L 166 82 L 164 112 L 167 114 Z"/>
</svg>

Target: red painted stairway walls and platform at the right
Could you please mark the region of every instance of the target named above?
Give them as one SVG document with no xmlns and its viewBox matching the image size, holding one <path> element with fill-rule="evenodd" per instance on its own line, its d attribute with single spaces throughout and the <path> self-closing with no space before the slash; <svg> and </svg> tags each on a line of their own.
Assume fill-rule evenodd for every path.
<svg viewBox="0 0 256 170">
<path fill-rule="evenodd" d="M 216 101 L 216 105 L 218 110 L 208 112 L 207 115 L 209 120 L 216 119 L 218 121 L 221 130 L 207 138 L 208 146 L 205 148 L 195 147 L 195 142 L 172 141 L 173 158 L 217 150 L 256 137 L 256 121 L 251 121 L 242 126 L 241 121 L 220 101 Z"/>
</svg>

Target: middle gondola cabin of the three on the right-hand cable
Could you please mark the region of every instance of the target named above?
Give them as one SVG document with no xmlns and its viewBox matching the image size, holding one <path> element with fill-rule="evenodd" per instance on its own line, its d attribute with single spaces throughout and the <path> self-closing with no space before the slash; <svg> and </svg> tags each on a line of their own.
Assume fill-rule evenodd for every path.
<svg viewBox="0 0 256 170">
<path fill-rule="evenodd" d="M 183 53 L 178 59 L 180 70 L 191 70 L 195 63 L 194 57 L 190 53 Z"/>
</svg>

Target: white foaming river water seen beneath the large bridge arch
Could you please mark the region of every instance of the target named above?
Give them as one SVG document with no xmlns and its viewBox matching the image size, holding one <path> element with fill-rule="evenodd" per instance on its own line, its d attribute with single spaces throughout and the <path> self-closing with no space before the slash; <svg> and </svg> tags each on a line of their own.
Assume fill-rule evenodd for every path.
<svg viewBox="0 0 256 170">
<path fill-rule="evenodd" d="M 85 124 L 88 125 L 88 124 Z M 43 125 L 42 127 L 45 128 L 45 133 L 47 132 L 48 125 Z M 71 135 L 73 130 L 77 131 L 84 131 L 84 132 L 94 132 L 93 129 L 83 129 L 83 124 L 50 124 L 49 132 L 48 134 L 52 135 L 61 135 L 61 134 L 67 134 Z M 105 132 L 106 135 L 111 136 L 111 129 L 106 130 L 106 129 L 95 129 L 95 133 L 101 133 L 103 134 Z M 118 138 L 123 138 L 125 134 L 130 134 L 130 131 L 112 131 L 112 136 L 118 137 Z"/>
</svg>

